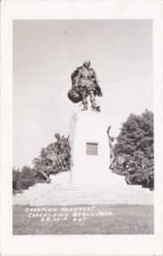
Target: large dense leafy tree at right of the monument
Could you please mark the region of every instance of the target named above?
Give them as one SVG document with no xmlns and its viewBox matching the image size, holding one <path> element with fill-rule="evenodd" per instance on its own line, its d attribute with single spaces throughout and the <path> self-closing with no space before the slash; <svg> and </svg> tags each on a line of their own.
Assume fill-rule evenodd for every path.
<svg viewBox="0 0 163 256">
<path fill-rule="evenodd" d="M 115 154 L 129 159 L 127 175 L 131 183 L 154 188 L 154 114 L 145 110 L 131 113 L 115 144 Z"/>
</svg>

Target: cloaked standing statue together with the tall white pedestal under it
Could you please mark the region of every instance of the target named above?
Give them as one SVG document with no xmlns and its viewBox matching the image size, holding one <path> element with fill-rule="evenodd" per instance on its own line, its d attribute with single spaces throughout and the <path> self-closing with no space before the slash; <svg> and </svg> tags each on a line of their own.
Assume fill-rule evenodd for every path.
<svg viewBox="0 0 163 256">
<path fill-rule="evenodd" d="M 107 126 L 96 104 L 103 96 L 95 71 L 85 61 L 72 73 L 71 102 L 82 102 L 82 111 L 70 120 L 71 177 L 73 183 L 101 183 L 109 180 L 110 148 Z M 92 109 L 87 108 L 89 97 Z"/>
</svg>

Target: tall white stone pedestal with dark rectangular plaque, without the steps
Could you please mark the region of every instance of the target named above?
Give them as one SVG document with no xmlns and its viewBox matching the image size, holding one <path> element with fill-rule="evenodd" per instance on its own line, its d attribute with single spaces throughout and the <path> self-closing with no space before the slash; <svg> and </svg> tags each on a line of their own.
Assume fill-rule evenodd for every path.
<svg viewBox="0 0 163 256">
<path fill-rule="evenodd" d="M 108 124 L 101 113 L 93 110 L 75 113 L 70 120 L 72 183 L 124 183 L 124 177 L 113 175 L 106 133 Z"/>
</svg>

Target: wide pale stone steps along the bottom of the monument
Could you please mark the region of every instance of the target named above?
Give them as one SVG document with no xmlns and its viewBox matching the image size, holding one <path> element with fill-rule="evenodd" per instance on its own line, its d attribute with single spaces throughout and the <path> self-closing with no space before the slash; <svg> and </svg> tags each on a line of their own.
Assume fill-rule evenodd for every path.
<svg viewBox="0 0 163 256">
<path fill-rule="evenodd" d="M 135 185 L 38 183 L 14 196 L 14 205 L 153 204 L 153 192 Z"/>
</svg>

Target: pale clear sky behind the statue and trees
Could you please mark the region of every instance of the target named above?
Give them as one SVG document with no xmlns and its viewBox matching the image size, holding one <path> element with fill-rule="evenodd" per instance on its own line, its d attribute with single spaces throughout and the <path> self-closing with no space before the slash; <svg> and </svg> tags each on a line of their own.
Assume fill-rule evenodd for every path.
<svg viewBox="0 0 163 256">
<path fill-rule="evenodd" d="M 117 136 L 130 113 L 153 110 L 151 20 L 14 20 L 14 166 L 32 166 L 55 132 L 68 136 L 80 104 L 70 74 L 91 61 L 97 98 Z"/>
</svg>

